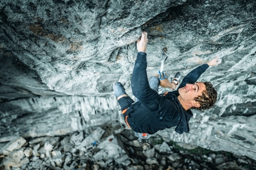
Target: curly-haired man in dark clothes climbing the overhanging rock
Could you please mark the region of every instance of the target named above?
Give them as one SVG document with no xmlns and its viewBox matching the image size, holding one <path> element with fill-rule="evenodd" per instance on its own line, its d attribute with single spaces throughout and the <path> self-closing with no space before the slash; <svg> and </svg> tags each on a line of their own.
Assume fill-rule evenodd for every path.
<svg viewBox="0 0 256 170">
<path fill-rule="evenodd" d="M 176 88 L 176 85 L 167 79 L 160 81 L 155 75 L 148 81 L 145 53 L 147 43 L 147 33 L 142 32 L 141 39 L 137 40 L 138 56 L 132 74 L 132 92 L 139 101 L 133 101 L 120 82 L 115 82 L 113 85 L 124 120 L 138 133 L 154 134 L 158 130 L 174 126 L 177 133 L 182 134 L 184 131 L 188 133 L 188 122 L 193 116 L 191 109 L 205 110 L 213 107 L 217 101 L 217 91 L 210 82 L 196 81 L 209 66 L 216 66 L 221 60 L 216 57 L 207 64 L 199 66 L 183 78 L 177 91 L 159 95 L 159 85 L 172 89 Z M 179 84 L 179 74 L 176 76 Z"/>
</svg>

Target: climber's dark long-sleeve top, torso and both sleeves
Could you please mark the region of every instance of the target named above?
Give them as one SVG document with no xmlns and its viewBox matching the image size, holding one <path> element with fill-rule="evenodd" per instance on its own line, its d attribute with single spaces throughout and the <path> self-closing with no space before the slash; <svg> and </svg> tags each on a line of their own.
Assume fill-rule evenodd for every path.
<svg viewBox="0 0 256 170">
<path fill-rule="evenodd" d="M 191 110 L 185 110 L 177 97 L 178 91 L 158 94 L 149 86 L 146 74 L 146 53 L 139 52 L 135 61 L 132 74 L 133 95 L 138 102 L 129 108 L 127 121 L 132 130 L 140 133 L 153 134 L 158 130 L 164 130 L 176 126 L 175 131 L 182 134 L 189 132 L 188 122 L 193 116 Z M 201 65 L 192 70 L 185 78 L 179 88 L 186 84 L 193 84 L 209 66 Z"/>
</svg>

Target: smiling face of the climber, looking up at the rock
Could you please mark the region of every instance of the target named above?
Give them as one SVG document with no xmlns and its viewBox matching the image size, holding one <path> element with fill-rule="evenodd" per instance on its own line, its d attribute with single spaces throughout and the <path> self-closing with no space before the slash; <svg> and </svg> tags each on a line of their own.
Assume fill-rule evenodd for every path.
<svg viewBox="0 0 256 170">
<path fill-rule="evenodd" d="M 186 84 L 183 88 L 179 88 L 179 94 L 184 102 L 189 102 L 193 107 L 198 107 L 194 98 L 202 95 L 202 91 L 206 90 L 203 82 L 196 82 L 195 84 Z M 200 107 L 200 105 L 199 105 Z"/>
</svg>

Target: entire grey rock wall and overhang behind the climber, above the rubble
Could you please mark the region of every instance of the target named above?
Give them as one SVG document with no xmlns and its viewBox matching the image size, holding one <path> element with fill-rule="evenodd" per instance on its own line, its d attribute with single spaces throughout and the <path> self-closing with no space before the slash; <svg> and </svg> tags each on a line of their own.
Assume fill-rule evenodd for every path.
<svg viewBox="0 0 256 170">
<path fill-rule="evenodd" d="M 217 87 L 216 107 L 193 111 L 191 133 L 158 134 L 256 159 L 255 10 L 253 0 L 1 1 L 1 142 L 121 121 L 111 85 L 120 81 L 131 94 L 133 42 L 146 30 L 148 75 L 163 47 L 169 75 L 223 59 L 199 79 Z"/>
</svg>

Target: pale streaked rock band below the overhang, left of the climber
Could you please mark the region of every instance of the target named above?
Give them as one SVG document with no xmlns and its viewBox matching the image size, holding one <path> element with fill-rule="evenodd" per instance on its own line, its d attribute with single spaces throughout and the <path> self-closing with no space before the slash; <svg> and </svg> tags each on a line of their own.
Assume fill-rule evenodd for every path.
<svg viewBox="0 0 256 170">
<path fill-rule="evenodd" d="M 24 98 L 0 105 L 0 142 L 17 136 L 63 135 L 111 120 L 123 121 L 114 97 Z"/>
</svg>

